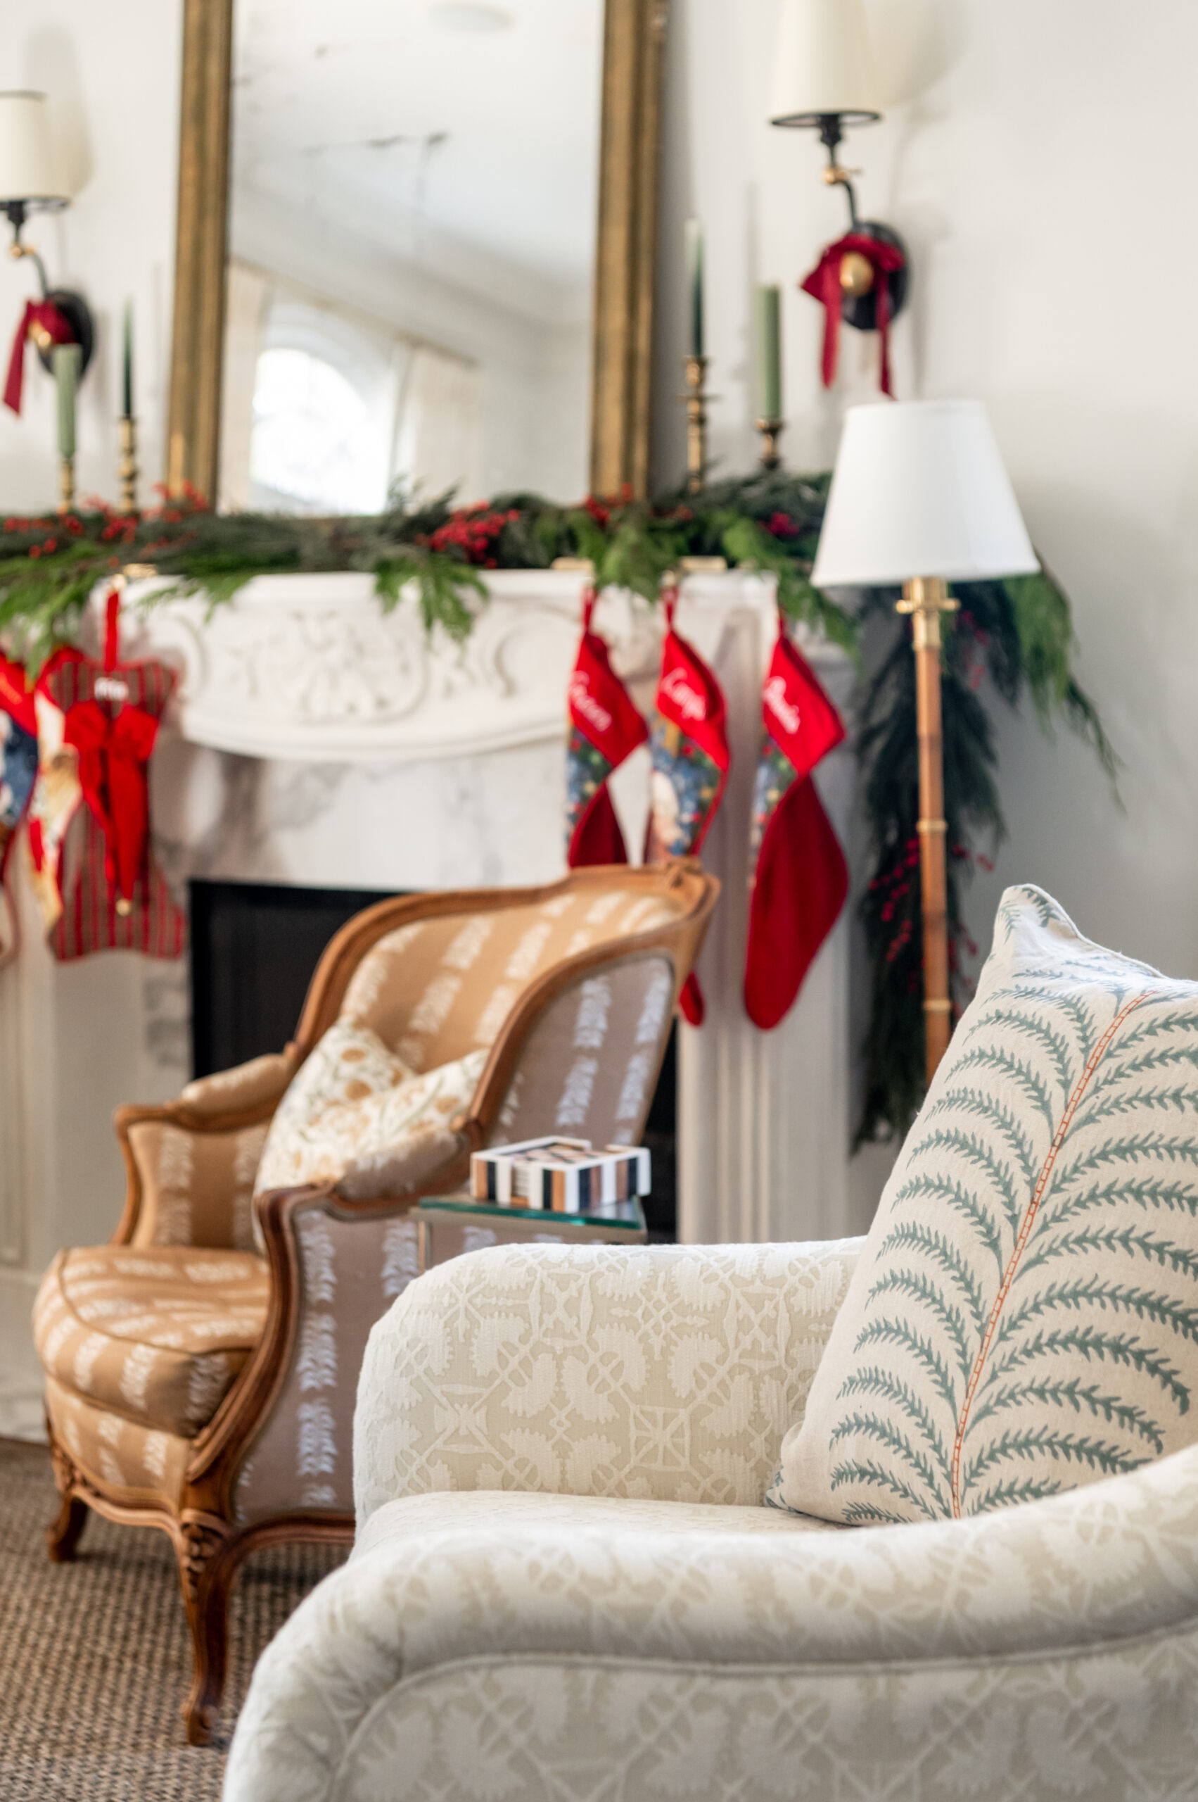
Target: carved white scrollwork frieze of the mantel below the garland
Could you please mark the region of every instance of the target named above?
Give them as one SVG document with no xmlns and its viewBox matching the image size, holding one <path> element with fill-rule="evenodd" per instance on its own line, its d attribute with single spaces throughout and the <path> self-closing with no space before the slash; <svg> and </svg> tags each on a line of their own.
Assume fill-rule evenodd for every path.
<svg viewBox="0 0 1198 1802">
<path fill-rule="evenodd" d="M 256 577 L 231 604 L 202 596 L 137 613 L 133 654 L 180 665 L 178 724 L 193 744 L 304 762 L 405 762 L 558 739 L 578 645 L 582 577 L 495 571 L 463 645 L 423 629 L 414 596 L 384 611 L 369 575 Z M 627 595 L 600 629 L 623 676 L 652 674 L 658 633 Z"/>
</svg>

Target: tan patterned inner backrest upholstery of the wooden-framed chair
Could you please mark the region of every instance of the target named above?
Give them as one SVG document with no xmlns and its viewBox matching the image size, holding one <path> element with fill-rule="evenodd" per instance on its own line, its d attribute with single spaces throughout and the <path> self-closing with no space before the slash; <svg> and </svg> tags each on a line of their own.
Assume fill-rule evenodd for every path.
<svg viewBox="0 0 1198 1802">
<path fill-rule="evenodd" d="M 564 957 L 676 919 L 679 901 L 582 887 L 524 906 L 398 926 L 362 959 L 340 1018 L 366 1025 L 413 1070 L 490 1047 L 528 986 Z"/>
</svg>

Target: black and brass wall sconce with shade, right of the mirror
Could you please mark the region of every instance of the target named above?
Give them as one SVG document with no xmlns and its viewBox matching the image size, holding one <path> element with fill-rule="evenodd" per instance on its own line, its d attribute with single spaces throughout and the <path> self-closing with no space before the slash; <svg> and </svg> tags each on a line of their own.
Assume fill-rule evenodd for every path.
<svg viewBox="0 0 1198 1802">
<path fill-rule="evenodd" d="M 865 29 L 861 0 L 782 0 L 778 56 L 775 61 L 769 123 L 820 133 L 829 153 L 823 180 L 843 187 L 849 200 L 849 231 L 897 252 L 897 267 L 879 270 L 859 250 L 840 258 L 841 317 L 858 332 L 877 328 L 877 279 L 886 281 L 886 315 L 903 312 L 908 290 L 906 245 L 890 225 L 858 218 L 852 177 L 836 151 L 849 126 L 881 119 L 874 56 Z M 895 261 L 886 256 L 885 261 Z"/>
</svg>

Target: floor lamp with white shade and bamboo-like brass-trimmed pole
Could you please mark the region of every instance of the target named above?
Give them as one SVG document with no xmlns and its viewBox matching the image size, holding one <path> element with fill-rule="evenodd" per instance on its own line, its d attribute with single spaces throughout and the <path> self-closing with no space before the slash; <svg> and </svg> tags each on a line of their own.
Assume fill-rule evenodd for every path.
<svg viewBox="0 0 1198 1802">
<path fill-rule="evenodd" d="M 1039 569 L 1011 478 L 978 400 L 850 407 L 811 580 L 816 587 L 903 584 L 912 614 L 919 732 L 919 874 L 924 926 L 928 1081 L 951 1033 L 940 614 L 949 582 Z"/>
</svg>

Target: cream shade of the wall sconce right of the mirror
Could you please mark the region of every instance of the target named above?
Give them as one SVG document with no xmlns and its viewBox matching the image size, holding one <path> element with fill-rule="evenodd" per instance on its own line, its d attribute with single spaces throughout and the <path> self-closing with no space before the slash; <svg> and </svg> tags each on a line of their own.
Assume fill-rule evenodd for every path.
<svg viewBox="0 0 1198 1802">
<path fill-rule="evenodd" d="M 782 0 L 769 119 L 814 124 L 825 114 L 881 114 L 861 0 Z"/>
</svg>

